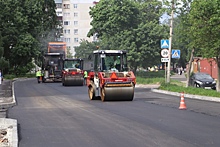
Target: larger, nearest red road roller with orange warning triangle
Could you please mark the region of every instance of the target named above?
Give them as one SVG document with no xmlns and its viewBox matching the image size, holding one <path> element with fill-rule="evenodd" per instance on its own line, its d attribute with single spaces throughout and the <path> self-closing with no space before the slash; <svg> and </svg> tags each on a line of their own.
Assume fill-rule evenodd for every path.
<svg viewBox="0 0 220 147">
<path fill-rule="evenodd" d="M 136 77 L 128 70 L 124 50 L 95 50 L 94 70 L 88 73 L 87 86 L 91 100 L 132 101 Z"/>
</svg>

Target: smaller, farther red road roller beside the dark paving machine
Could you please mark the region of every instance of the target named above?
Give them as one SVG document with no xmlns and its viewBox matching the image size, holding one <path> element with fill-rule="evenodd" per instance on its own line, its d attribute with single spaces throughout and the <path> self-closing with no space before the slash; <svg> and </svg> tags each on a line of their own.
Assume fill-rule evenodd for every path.
<svg viewBox="0 0 220 147">
<path fill-rule="evenodd" d="M 62 71 L 63 86 L 83 86 L 83 59 L 64 59 Z"/>
</svg>

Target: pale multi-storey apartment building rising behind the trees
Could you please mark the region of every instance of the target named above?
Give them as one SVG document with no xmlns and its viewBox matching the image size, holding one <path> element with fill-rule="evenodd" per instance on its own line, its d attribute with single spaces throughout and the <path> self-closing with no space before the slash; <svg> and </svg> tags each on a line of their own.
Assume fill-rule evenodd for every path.
<svg viewBox="0 0 220 147">
<path fill-rule="evenodd" d="M 59 41 L 67 43 L 73 56 L 75 47 L 80 45 L 81 40 L 96 41 L 95 37 L 87 37 L 91 29 L 90 7 L 97 4 L 98 0 L 55 0 L 56 13 L 63 25 L 63 35 Z"/>
</svg>

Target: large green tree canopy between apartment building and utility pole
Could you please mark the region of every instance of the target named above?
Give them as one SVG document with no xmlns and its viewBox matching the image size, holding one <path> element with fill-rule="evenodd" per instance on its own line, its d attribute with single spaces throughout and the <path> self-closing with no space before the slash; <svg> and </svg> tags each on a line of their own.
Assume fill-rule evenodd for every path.
<svg viewBox="0 0 220 147">
<path fill-rule="evenodd" d="M 102 0 L 91 8 L 92 29 L 109 49 L 128 51 L 134 71 L 160 63 L 160 40 L 167 29 L 159 23 L 162 3 L 157 0 Z M 104 46 L 103 45 L 103 46 Z"/>
</svg>

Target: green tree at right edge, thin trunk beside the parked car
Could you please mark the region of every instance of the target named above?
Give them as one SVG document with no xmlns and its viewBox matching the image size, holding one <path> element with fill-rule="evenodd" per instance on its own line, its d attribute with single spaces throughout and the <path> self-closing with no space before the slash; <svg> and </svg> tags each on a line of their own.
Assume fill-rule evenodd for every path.
<svg viewBox="0 0 220 147">
<path fill-rule="evenodd" d="M 191 47 L 200 49 L 200 53 L 205 58 L 215 57 L 218 67 L 217 91 L 220 91 L 220 1 L 200 1 L 194 0 L 191 4 L 189 21 L 191 24 L 190 34 Z"/>
</svg>

